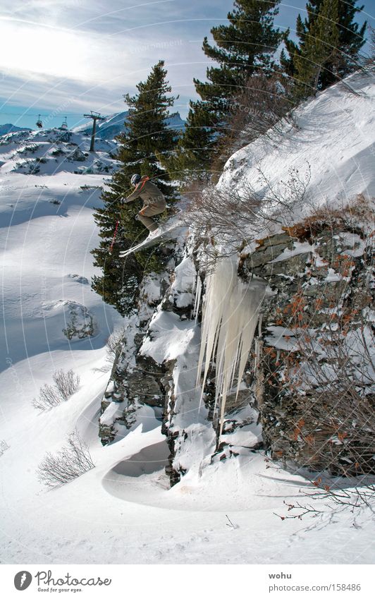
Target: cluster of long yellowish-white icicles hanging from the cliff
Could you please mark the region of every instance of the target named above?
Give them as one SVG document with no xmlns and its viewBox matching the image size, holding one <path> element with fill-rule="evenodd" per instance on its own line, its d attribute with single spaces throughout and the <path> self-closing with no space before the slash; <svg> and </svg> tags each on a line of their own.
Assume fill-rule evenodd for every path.
<svg viewBox="0 0 375 599">
<path fill-rule="evenodd" d="M 235 399 L 238 397 L 265 286 L 264 282 L 258 280 L 248 284 L 242 282 L 237 274 L 237 264 L 230 258 L 219 260 L 214 272 L 206 279 L 197 385 L 199 383 L 202 385 L 203 396 L 209 366 L 213 363 L 216 370 L 215 411 L 220 410 L 220 435 L 226 399 L 235 379 L 238 381 Z M 199 306 L 201 293 L 202 287 L 198 276 L 195 311 Z M 204 375 L 201 382 L 203 363 Z"/>
</svg>

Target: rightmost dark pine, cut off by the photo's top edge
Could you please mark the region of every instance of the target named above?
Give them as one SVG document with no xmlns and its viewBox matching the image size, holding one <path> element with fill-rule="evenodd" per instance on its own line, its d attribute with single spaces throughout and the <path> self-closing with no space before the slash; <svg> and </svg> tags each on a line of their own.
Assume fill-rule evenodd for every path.
<svg viewBox="0 0 375 599">
<path fill-rule="evenodd" d="M 307 18 L 302 20 L 300 15 L 297 16 L 295 28 L 299 40 L 297 44 L 289 39 L 289 32 L 285 34 L 286 53 L 284 51 L 281 53 L 281 65 L 285 73 L 291 77 L 295 76 L 298 57 L 304 52 L 307 35 L 309 35 L 310 28 L 318 18 L 323 4 L 324 0 L 310 0 L 306 5 Z M 367 23 L 359 27 L 354 19 L 356 13 L 362 11 L 363 8 L 363 6 L 356 6 L 356 0 L 338 1 L 337 52 L 330 59 L 327 59 L 324 68 L 321 69 L 318 89 L 324 89 L 356 68 L 359 50 L 365 42 L 364 34 Z"/>
</svg>

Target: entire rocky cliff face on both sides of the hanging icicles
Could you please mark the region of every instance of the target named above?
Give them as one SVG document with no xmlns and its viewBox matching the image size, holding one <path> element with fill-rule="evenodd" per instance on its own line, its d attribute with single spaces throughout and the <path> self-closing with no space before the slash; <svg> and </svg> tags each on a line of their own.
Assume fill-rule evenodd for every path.
<svg viewBox="0 0 375 599">
<path fill-rule="evenodd" d="M 260 448 L 314 471 L 374 471 L 371 240 L 344 214 L 301 223 L 240 256 L 238 276 L 261 277 L 269 293 L 220 439 L 214 365 L 202 398 L 196 386 L 202 298 L 195 296 L 205 273 L 202 248 L 190 241 L 166 272 L 144 282 L 102 400 L 102 442 L 137 425 L 147 408 L 162 420 L 171 485 L 189 470 Z"/>
</svg>

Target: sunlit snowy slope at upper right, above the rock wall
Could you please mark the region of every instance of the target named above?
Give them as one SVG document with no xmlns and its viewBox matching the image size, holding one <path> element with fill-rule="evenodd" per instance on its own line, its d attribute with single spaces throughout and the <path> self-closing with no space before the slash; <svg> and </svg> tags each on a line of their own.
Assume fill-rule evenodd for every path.
<svg viewBox="0 0 375 599">
<path fill-rule="evenodd" d="M 228 160 L 220 188 L 271 188 L 295 202 L 293 178 L 307 188 L 295 202 L 295 219 L 323 205 L 343 205 L 359 193 L 375 195 L 375 75 L 355 73 L 298 107 L 285 123 Z M 350 85 L 350 87 L 348 87 Z"/>
</svg>

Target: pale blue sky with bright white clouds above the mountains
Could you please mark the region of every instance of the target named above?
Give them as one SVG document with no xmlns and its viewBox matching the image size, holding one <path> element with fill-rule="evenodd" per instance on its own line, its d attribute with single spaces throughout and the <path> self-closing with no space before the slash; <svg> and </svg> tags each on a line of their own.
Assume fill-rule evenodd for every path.
<svg viewBox="0 0 375 599">
<path fill-rule="evenodd" d="M 305 4 L 283 1 L 276 25 L 293 30 Z M 375 26 L 375 0 L 363 4 L 357 22 Z M 233 0 L 1 0 L 0 123 L 34 128 L 42 114 L 44 126 L 67 116 L 73 127 L 90 110 L 123 111 L 123 95 L 159 59 L 185 117 L 192 79 L 211 63 L 202 40 L 232 8 Z"/>
</svg>

